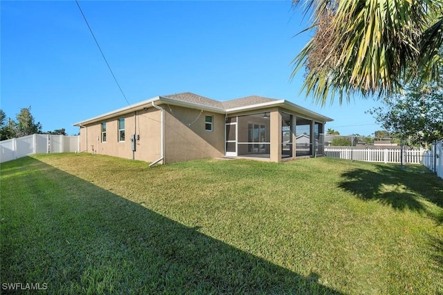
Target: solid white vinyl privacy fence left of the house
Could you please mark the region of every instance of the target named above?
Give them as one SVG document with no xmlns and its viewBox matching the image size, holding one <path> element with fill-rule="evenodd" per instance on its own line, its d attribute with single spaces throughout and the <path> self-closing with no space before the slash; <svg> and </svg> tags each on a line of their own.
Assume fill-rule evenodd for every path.
<svg viewBox="0 0 443 295">
<path fill-rule="evenodd" d="M 35 153 L 70 153 L 79 151 L 79 137 L 34 134 L 0 142 L 0 163 Z"/>
</svg>

